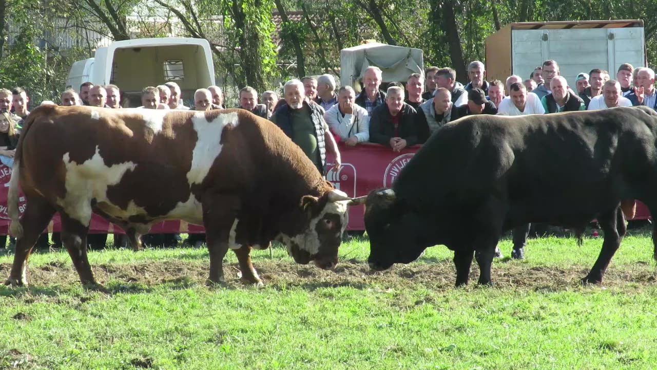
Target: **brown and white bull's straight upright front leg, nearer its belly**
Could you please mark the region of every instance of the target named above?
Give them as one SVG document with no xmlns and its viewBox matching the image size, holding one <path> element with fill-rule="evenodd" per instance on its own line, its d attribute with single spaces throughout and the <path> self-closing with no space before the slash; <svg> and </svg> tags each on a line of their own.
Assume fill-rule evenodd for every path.
<svg viewBox="0 0 657 370">
<path fill-rule="evenodd" d="M 237 221 L 239 199 L 232 196 L 209 193 L 201 199 L 203 225 L 206 228 L 206 244 L 210 254 L 210 277 L 208 284 L 225 282 L 223 257 L 228 251 L 229 236 L 233 223 Z"/>
</svg>

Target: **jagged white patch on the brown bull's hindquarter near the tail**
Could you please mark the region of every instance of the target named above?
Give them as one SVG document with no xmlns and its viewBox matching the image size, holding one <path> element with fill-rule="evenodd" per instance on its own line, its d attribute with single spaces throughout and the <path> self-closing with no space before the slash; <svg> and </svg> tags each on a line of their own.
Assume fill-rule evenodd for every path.
<svg viewBox="0 0 657 370">
<path fill-rule="evenodd" d="M 57 204 L 72 219 L 85 226 L 91 221 L 91 199 L 96 198 L 98 203 L 109 203 L 107 187 L 118 184 L 126 171 L 134 171 L 137 167 L 133 162 L 106 166 L 98 145 L 93 157 L 81 164 L 72 162 L 70 153 L 65 153 L 62 161 L 66 166 L 66 196 L 57 199 Z"/>
</svg>

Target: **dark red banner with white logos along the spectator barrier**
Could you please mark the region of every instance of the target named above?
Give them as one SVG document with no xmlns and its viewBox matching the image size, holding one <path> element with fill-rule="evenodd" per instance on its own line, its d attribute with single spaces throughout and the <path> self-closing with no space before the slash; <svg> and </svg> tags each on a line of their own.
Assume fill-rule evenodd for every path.
<svg viewBox="0 0 657 370">
<path fill-rule="evenodd" d="M 401 152 L 396 152 L 392 151 L 389 147 L 378 144 L 358 144 L 355 147 L 340 144 L 342 167 L 338 171 L 329 170 L 327 180 L 352 198 L 366 196 L 371 190 L 376 188 L 392 186 L 392 182 L 399 175 L 401 169 L 413 158 L 413 155 L 415 155 L 419 148 L 420 145 L 415 145 L 403 149 Z M 329 165 L 332 164 L 332 158 L 330 156 L 328 163 Z M 11 169 L 0 164 L 0 235 L 7 235 L 7 228 L 9 227 L 7 193 L 10 178 Z M 19 201 L 21 215 L 25 210 L 25 205 L 25 198 L 21 196 Z M 365 224 L 363 223 L 364 210 L 363 205 L 350 207 L 348 230 L 365 230 Z M 643 203 L 637 202 L 637 215 L 634 219 L 645 220 L 648 218 L 650 218 L 648 208 Z M 58 232 L 59 230 L 59 215 L 56 214 L 48 225 L 48 231 Z M 91 217 L 91 225 L 89 225 L 89 232 L 92 234 L 123 234 L 124 230 L 108 223 L 108 221 L 100 216 L 93 215 Z M 153 225 L 150 228 L 150 232 L 152 234 L 171 232 L 196 234 L 205 232 L 205 229 L 203 226 L 189 224 L 184 221 L 164 221 Z"/>
</svg>

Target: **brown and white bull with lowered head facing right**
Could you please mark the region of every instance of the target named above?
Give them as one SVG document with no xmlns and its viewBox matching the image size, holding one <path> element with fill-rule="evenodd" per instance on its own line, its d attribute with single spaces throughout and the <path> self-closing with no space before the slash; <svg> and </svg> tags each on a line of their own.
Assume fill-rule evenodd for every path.
<svg viewBox="0 0 657 370">
<path fill-rule="evenodd" d="M 6 284 L 27 284 L 28 257 L 55 212 L 83 284 L 97 284 L 86 251 L 92 213 L 121 226 L 135 250 L 154 223 L 203 225 L 209 282 L 223 280 L 232 249 L 242 279 L 261 284 L 250 250 L 275 239 L 297 263 L 331 269 L 351 203 L 283 131 L 243 109 L 44 105 L 26 120 L 14 157 L 8 207 L 17 241 Z"/>
</svg>

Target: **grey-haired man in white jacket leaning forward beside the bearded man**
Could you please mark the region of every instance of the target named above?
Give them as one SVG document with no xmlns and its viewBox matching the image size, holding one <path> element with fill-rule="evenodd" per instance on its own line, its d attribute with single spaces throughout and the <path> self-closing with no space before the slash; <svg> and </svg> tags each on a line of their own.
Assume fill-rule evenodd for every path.
<svg viewBox="0 0 657 370">
<path fill-rule="evenodd" d="M 338 103 L 324 113 L 330 130 L 348 146 L 369 141 L 370 117 L 367 109 L 354 102 L 355 98 L 356 93 L 351 86 L 342 86 L 338 90 Z"/>
</svg>

